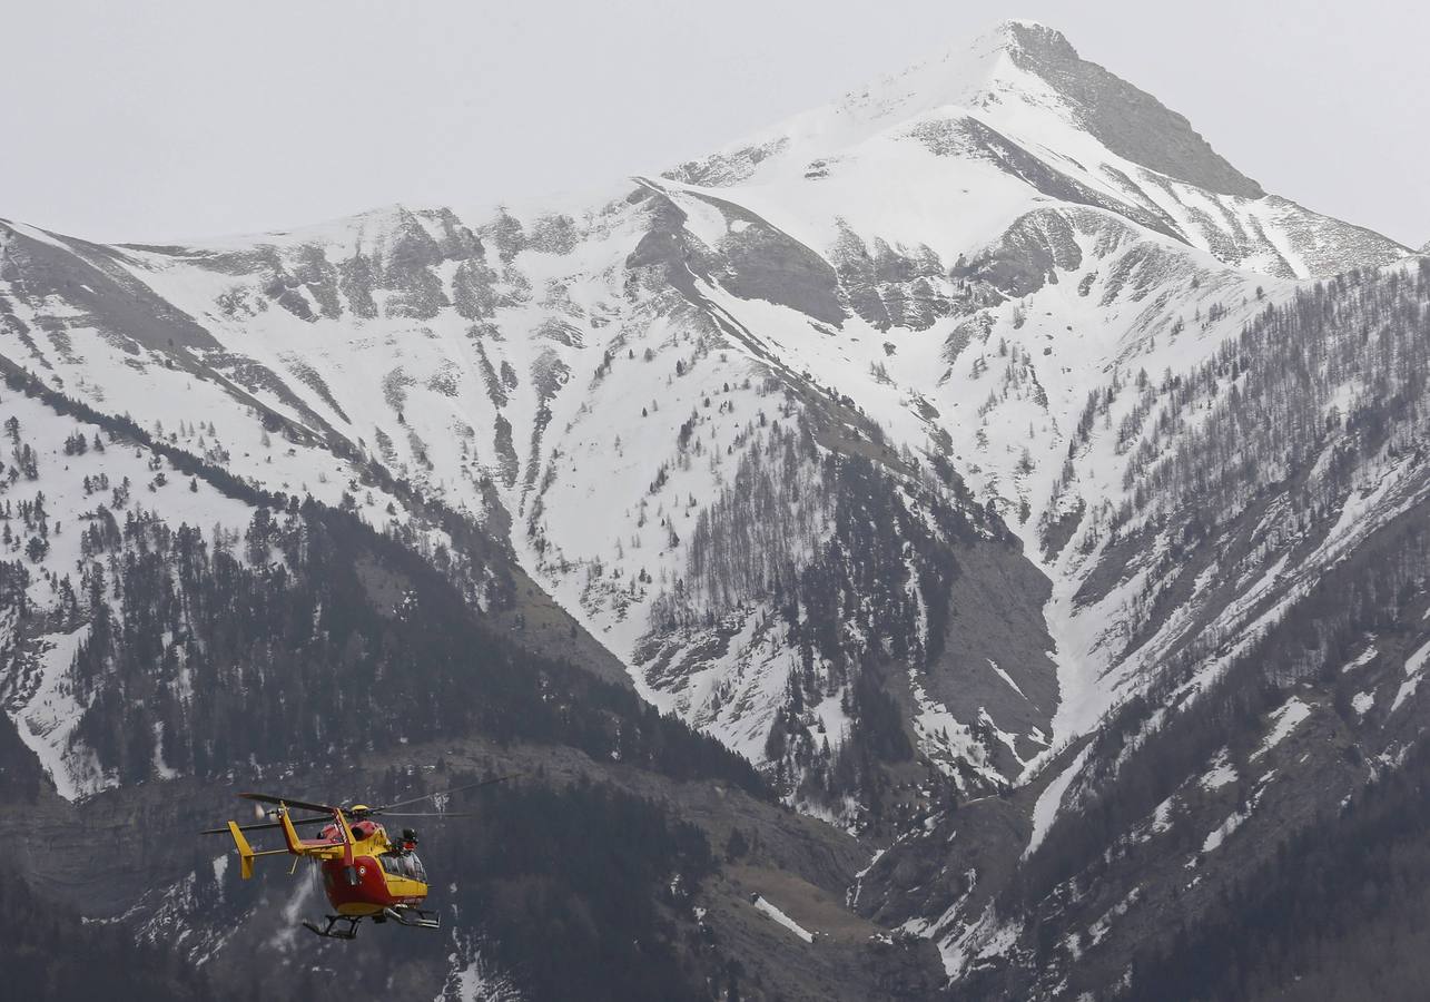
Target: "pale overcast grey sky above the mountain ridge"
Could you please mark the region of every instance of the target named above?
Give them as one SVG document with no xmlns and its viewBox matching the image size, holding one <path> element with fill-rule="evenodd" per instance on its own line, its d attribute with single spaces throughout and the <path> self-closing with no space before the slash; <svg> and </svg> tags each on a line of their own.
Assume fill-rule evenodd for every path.
<svg viewBox="0 0 1430 1002">
<path fill-rule="evenodd" d="M 1268 190 L 1430 240 L 1420 3 L 1174 6 L 0 0 L 0 216 L 169 240 L 592 188 L 1031 17 Z"/>
</svg>

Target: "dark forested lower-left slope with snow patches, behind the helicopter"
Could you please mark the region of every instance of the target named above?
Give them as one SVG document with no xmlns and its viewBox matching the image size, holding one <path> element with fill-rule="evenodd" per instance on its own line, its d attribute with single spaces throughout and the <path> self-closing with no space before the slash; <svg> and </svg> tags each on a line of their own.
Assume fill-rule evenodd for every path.
<svg viewBox="0 0 1430 1002">
<path fill-rule="evenodd" d="M 611 998 L 699 996 L 734 963 L 791 998 L 934 983 L 930 952 L 871 956 L 877 928 L 852 915 L 862 936 L 822 950 L 837 986 L 776 966 L 786 948 L 742 885 L 828 899 L 858 845 L 776 807 L 748 763 L 628 689 L 523 648 L 416 531 L 265 495 L 16 375 L 0 407 L 17 455 L 0 505 L 0 830 L 36 895 L 182 948 L 202 968 L 182 982 L 193 996 L 478 981 L 512 998 L 595 998 L 596 981 Z M 240 882 L 232 849 L 194 839 L 232 816 L 235 787 L 390 800 L 496 770 L 525 780 L 459 803 L 479 833 L 423 825 L 443 933 L 366 938 L 340 963 L 295 949 L 296 918 L 320 908 L 315 873 Z M 734 826 L 744 847 L 716 857 Z M 315 976 L 315 956 L 340 975 Z"/>
</svg>

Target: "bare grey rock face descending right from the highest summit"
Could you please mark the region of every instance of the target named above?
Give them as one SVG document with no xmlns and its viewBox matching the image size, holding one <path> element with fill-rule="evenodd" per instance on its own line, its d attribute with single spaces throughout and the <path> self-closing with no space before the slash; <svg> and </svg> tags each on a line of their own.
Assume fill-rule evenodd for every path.
<svg viewBox="0 0 1430 1002">
<path fill-rule="evenodd" d="M 1261 186 L 1227 163 L 1185 117 L 1077 54 L 1060 31 L 1011 29 L 1012 59 L 1074 103 L 1084 129 L 1118 156 L 1223 195 L 1258 199 Z"/>
</svg>

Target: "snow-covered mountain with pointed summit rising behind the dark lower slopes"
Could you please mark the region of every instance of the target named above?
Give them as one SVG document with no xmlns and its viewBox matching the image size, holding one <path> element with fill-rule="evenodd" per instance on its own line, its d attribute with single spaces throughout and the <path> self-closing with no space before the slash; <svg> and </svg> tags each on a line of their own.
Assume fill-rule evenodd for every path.
<svg viewBox="0 0 1430 1002">
<path fill-rule="evenodd" d="M 1055 993 L 1081 950 L 1123 949 L 1137 900 L 1060 910 L 1077 946 L 1037 973 L 1018 950 L 1051 899 L 1010 910 L 1014 875 L 1423 504 L 1423 285 L 1407 248 L 1267 193 L 1012 21 L 586 205 L 193 246 L 3 223 L 0 356 L 468 560 L 469 600 L 516 617 L 526 585 L 463 557 L 495 537 L 644 699 L 802 810 L 898 836 L 854 908 L 938 942 L 951 978 L 1004 965 Z M 1336 711 L 1287 693 L 1344 643 L 1277 668 L 1247 724 L 1267 762 Z M 79 796 L 107 780 L 47 696 L 60 654 L 7 711 Z M 1389 759 L 1404 684 L 1348 719 Z M 1218 756 L 1178 767 L 1251 782 Z M 1294 774 L 1257 779 L 1201 853 Z M 1115 837 L 1223 807 L 1175 789 Z"/>
</svg>

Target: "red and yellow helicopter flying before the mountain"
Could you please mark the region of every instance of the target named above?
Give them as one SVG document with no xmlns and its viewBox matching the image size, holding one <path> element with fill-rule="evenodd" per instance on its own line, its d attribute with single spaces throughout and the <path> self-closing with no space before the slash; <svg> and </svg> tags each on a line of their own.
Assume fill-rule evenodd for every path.
<svg viewBox="0 0 1430 1002">
<path fill-rule="evenodd" d="M 206 829 L 200 835 L 233 836 L 239 850 L 239 872 L 245 880 L 253 876 L 253 860 L 259 856 L 295 856 L 290 873 L 297 870 L 297 860 L 305 856 L 316 862 L 323 873 L 323 890 L 335 913 L 326 916 L 323 926 L 305 919 L 303 928 L 325 939 L 356 939 L 358 925 L 363 919 L 372 919 L 375 923 L 390 920 L 413 929 L 438 929 L 442 925 L 440 916 L 420 908 L 428 896 L 428 872 L 416 853 L 418 833 L 403 829 L 402 836 L 393 840 L 388 829 L 373 819 L 468 817 L 469 814 L 446 812 L 395 813 L 393 807 L 406 807 L 509 779 L 515 777 L 500 776 L 376 807 L 368 804 L 343 807 L 269 793 L 240 793 L 245 800 L 273 804 L 273 810 L 267 814 L 277 820 L 257 825 L 239 825 L 230 820 L 226 827 Z M 316 812 L 316 816 L 293 817 L 293 810 Z M 322 825 L 316 839 L 299 836 L 297 829 L 309 825 Z M 255 850 L 245 832 L 263 829 L 282 829 L 285 847 Z"/>
</svg>

